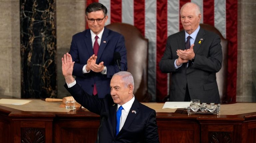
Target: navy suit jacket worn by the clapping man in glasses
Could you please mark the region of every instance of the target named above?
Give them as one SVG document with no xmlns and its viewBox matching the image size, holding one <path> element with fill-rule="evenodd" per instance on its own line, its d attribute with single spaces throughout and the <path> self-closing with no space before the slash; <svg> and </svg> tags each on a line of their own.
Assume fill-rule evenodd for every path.
<svg viewBox="0 0 256 143">
<path fill-rule="evenodd" d="M 92 70 L 83 74 L 83 66 L 87 64 L 87 60 L 94 54 L 90 29 L 77 33 L 72 37 L 69 54 L 75 61 L 73 75 L 76 76 L 77 83 L 81 85 L 85 92 L 92 95 L 94 83 L 96 83 L 99 98 L 104 98 L 106 94 L 110 94 L 110 80 L 115 73 L 119 72 L 117 63 L 113 59 L 115 52 L 120 53 L 121 70 L 126 71 L 127 55 L 124 37 L 117 32 L 104 28 L 96 63 L 99 64 L 103 61 L 107 67 L 107 74 L 95 73 Z"/>
</svg>

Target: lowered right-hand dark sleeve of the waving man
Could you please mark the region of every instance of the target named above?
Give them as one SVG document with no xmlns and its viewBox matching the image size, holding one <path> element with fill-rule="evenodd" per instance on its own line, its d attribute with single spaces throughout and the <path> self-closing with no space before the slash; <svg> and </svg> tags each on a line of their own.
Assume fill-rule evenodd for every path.
<svg viewBox="0 0 256 143">
<path fill-rule="evenodd" d="M 146 137 L 146 143 L 159 143 L 155 110 L 152 110 L 149 114 L 144 136 Z"/>
</svg>

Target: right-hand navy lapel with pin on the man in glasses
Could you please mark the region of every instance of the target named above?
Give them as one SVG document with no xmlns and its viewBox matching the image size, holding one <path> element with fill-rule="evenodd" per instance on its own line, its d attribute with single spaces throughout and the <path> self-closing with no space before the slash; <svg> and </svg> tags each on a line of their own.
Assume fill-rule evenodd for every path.
<svg viewBox="0 0 256 143">
<path fill-rule="evenodd" d="M 99 47 L 96 63 L 99 63 L 100 57 L 101 57 L 104 49 L 106 48 L 106 45 L 108 44 L 108 41 L 109 41 L 109 39 L 107 38 L 108 34 L 109 34 L 109 29 L 104 28 L 104 31 L 103 31 L 103 34 L 101 37 L 101 41 L 100 41 L 100 47 Z"/>
</svg>

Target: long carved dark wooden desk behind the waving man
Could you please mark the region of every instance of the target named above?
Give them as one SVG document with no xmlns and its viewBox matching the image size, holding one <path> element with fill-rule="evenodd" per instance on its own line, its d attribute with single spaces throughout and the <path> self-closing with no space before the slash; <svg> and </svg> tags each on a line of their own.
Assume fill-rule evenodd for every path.
<svg viewBox="0 0 256 143">
<path fill-rule="evenodd" d="M 42 104 L 47 103 L 40 102 L 40 108 L 43 107 Z M 56 107 L 60 105 L 60 103 L 54 104 Z M 163 103 L 144 104 L 157 111 L 161 143 L 256 142 L 256 112 L 248 113 L 245 107 L 256 108 L 256 103 L 222 105 L 223 110 L 221 109 L 219 116 L 213 114 L 187 115 L 184 109 L 176 111 L 161 109 Z M 27 106 L 31 107 L 31 105 Z M 6 107 L 1 104 L 0 142 L 95 142 L 100 119 L 98 115 L 82 108 L 76 110 L 60 108 L 58 112 L 40 111 L 40 109 L 37 111 L 36 107 L 38 106 L 37 103 L 35 108 L 31 108 L 32 111 L 22 111 L 17 109 L 19 106 Z M 231 110 L 231 113 L 228 113 L 227 108 Z M 240 114 L 234 114 L 234 111 L 238 110 Z M 224 115 L 222 112 L 229 115 Z"/>
</svg>

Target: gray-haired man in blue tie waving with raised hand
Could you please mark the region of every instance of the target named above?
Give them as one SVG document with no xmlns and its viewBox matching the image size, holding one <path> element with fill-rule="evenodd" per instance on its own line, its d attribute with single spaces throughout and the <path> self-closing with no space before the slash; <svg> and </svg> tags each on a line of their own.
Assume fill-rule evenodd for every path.
<svg viewBox="0 0 256 143">
<path fill-rule="evenodd" d="M 66 89 L 83 107 L 105 115 L 99 129 L 100 143 L 159 143 L 155 110 L 139 103 L 134 95 L 131 73 L 121 71 L 111 79 L 111 95 L 97 98 L 88 95 L 72 77 L 74 62 L 70 54 L 62 58 L 62 73 Z"/>
</svg>

